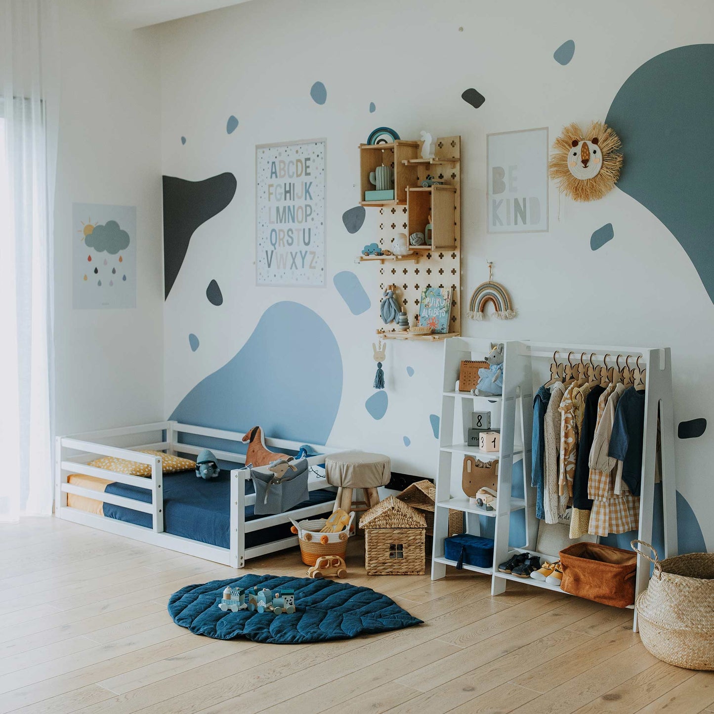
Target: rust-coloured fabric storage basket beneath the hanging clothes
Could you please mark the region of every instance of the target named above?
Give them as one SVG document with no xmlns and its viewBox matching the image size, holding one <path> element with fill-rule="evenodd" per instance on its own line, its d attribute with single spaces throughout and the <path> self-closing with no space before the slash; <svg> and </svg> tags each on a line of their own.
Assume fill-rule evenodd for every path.
<svg viewBox="0 0 714 714">
<path fill-rule="evenodd" d="M 573 543 L 560 551 L 563 580 L 571 595 L 626 608 L 635 602 L 637 555 L 600 543 Z"/>
</svg>

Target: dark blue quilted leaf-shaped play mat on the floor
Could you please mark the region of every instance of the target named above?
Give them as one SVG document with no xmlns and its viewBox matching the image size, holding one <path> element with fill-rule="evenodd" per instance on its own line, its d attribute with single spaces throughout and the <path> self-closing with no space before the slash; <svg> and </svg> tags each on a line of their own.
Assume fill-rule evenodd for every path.
<svg viewBox="0 0 714 714">
<path fill-rule="evenodd" d="M 223 588 L 292 588 L 293 614 L 238 610 L 218 607 Z M 254 642 L 295 645 L 308 642 L 345 640 L 358 635 L 401 630 L 421 625 L 391 598 L 370 588 L 336 580 L 288 578 L 278 575 L 243 575 L 231 580 L 211 580 L 203 585 L 186 585 L 169 598 L 169 615 L 196 635 L 218 640 L 244 637 Z"/>
</svg>

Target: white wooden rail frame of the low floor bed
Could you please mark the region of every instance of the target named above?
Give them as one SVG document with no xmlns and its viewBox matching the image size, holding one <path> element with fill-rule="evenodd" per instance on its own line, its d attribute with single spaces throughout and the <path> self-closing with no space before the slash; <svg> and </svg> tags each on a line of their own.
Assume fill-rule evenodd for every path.
<svg viewBox="0 0 714 714">
<path fill-rule="evenodd" d="M 263 543 L 252 548 L 245 547 L 246 533 L 261 531 L 263 528 L 278 526 L 289 523 L 290 518 L 310 518 L 320 513 L 328 511 L 328 503 L 316 503 L 305 508 L 299 508 L 288 513 L 277 513 L 274 516 L 263 516 L 255 518 L 246 523 L 246 506 L 253 506 L 256 500 L 255 494 L 245 493 L 245 480 L 249 478 L 249 471 L 241 466 L 231 470 L 231 509 L 230 509 L 230 548 L 221 548 L 218 545 L 201 543 L 190 538 L 182 538 L 178 535 L 164 532 L 164 496 L 163 496 L 163 471 L 161 456 L 140 453 L 139 449 L 151 451 L 164 451 L 170 454 L 186 453 L 196 456 L 203 448 L 211 448 L 216 458 L 231 464 L 245 464 L 246 456 L 241 451 L 245 434 L 223 429 L 213 429 L 203 426 L 193 426 L 175 421 L 156 422 L 139 426 L 129 426 L 125 428 L 106 429 L 91 433 L 78 434 L 76 436 L 58 436 L 56 438 L 56 464 L 55 464 L 55 508 L 56 515 L 68 521 L 81 523 L 85 526 L 92 526 L 103 531 L 125 535 L 144 543 L 160 545 L 164 548 L 177 550 L 188 555 L 196 555 L 199 558 L 213 560 L 224 565 L 233 565 L 234 568 L 242 568 L 248 558 L 256 558 L 259 555 L 273 553 L 276 550 L 291 548 L 297 545 L 296 536 L 282 538 L 271 543 Z M 192 443 L 186 443 L 186 437 Z M 206 440 L 205 446 L 201 445 L 201 440 Z M 214 448 L 213 444 L 219 441 L 237 443 L 238 451 L 227 451 L 226 449 Z M 266 446 L 273 449 L 297 452 L 302 444 L 286 439 L 266 438 Z M 327 453 L 336 453 L 341 449 L 326 446 L 316 446 L 316 451 L 320 451 L 317 456 L 307 458 L 311 467 L 323 463 Z M 151 466 L 151 476 L 130 476 L 118 471 L 109 471 L 104 468 L 89 466 L 89 462 L 98 456 L 109 456 L 125 459 L 126 461 L 136 461 L 146 463 Z M 139 501 L 126 496 L 116 496 L 112 493 L 94 491 L 91 488 L 83 488 L 75 484 L 68 483 L 70 474 L 79 473 L 86 476 L 94 476 L 106 479 L 107 481 L 117 481 L 129 486 L 145 488 L 151 490 L 151 503 Z M 315 491 L 321 488 L 330 488 L 323 479 L 318 480 L 314 473 L 311 473 L 308 481 L 308 489 Z M 67 494 L 84 496 L 93 501 L 111 503 L 114 506 L 123 506 L 141 513 L 151 515 L 152 528 L 149 531 L 144 526 L 137 526 L 134 523 L 119 521 L 114 518 L 105 518 L 94 513 L 87 513 L 78 508 L 71 508 L 67 505 Z"/>
</svg>

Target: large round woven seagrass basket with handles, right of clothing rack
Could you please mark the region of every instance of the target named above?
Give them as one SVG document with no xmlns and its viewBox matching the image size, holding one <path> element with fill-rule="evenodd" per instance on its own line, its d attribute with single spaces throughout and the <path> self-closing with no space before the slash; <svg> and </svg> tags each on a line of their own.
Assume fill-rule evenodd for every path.
<svg viewBox="0 0 714 714">
<path fill-rule="evenodd" d="M 650 584 L 635 603 L 645 648 L 671 665 L 714 670 L 714 553 L 660 560 L 649 543 L 630 545 L 654 564 Z M 636 545 L 649 548 L 654 558 Z"/>
</svg>

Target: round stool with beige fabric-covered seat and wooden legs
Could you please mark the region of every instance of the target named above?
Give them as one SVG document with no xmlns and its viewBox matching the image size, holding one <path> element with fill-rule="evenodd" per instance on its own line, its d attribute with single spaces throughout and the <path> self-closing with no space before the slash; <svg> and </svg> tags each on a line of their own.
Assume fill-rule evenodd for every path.
<svg viewBox="0 0 714 714">
<path fill-rule="evenodd" d="M 330 486 L 338 487 L 333 511 L 368 511 L 379 503 L 378 488 L 391 479 L 391 462 L 381 453 L 333 453 L 325 459 L 325 476 Z M 361 501 L 352 500 L 356 488 L 362 491 Z"/>
</svg>

